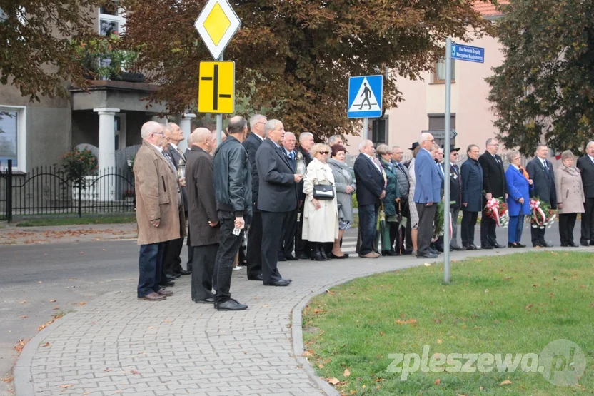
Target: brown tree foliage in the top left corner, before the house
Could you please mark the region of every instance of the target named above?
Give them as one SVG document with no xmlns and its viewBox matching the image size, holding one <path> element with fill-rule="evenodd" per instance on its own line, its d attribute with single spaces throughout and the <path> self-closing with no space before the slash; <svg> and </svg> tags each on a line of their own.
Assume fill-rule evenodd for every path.
<svg viewBox="0 0 594 396">
<path fill-rule="evenodd" d="M 68 97 L 65 81 L 86 86 L 71 39 L 87 39 L 99 0 L 0 0 L 0 82 L 21 95 Z M 5 19 L 3 21 L 3 19 Z"/>
</svg>

